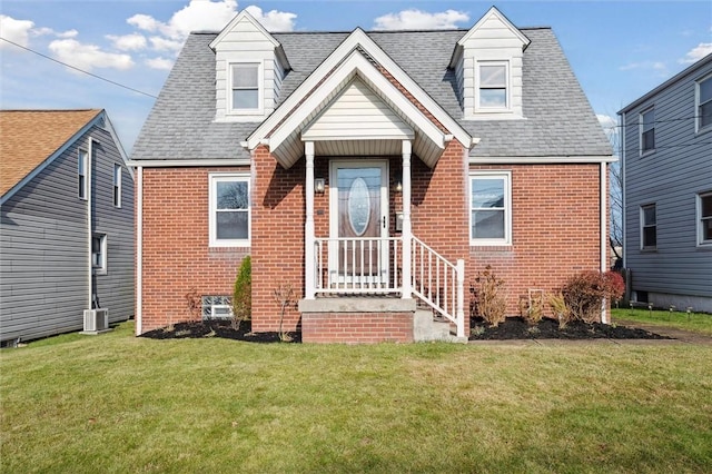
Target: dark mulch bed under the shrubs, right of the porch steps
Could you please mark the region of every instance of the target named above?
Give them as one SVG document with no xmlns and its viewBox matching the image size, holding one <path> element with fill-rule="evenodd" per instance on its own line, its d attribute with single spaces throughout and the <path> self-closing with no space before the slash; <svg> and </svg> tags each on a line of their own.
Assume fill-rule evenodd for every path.
<svg viewBox="0 0 712 474">
<path fill-rule="evenodd" d="M 522 317 L 508 317 L 497 327 L 487 326 L 482 319 L 471 323 L 474 328 L 469 340 L 508 340 L 508 339 L 670 339 L 660 334 L 650 333 L 636 327 L 610 325 L 601 323 L 571 322 L 563 329 L 558 322 L 542 319 L 537 325 L 527 324 Z"/>
</svg>

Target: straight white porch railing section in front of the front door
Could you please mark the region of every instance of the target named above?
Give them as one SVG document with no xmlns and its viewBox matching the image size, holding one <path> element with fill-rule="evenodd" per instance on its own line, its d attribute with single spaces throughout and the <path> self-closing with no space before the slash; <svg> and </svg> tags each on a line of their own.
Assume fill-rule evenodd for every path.
<svg viewBox="0 0 712 474">
<path fill-rule="evenodd" d="M 317 293 L 399 293 L 400 238 L 315 238 Z"/>
</svg>

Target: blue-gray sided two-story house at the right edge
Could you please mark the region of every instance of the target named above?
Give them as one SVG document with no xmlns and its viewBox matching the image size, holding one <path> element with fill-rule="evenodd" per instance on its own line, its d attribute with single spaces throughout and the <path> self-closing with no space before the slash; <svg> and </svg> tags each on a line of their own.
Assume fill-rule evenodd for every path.
<svg viewBox="0 0 712 474">
<path fill-rule="evenodd" d="M 632 299 L 712 313 L 712 55 L 619 115 Z"/>
</svg>

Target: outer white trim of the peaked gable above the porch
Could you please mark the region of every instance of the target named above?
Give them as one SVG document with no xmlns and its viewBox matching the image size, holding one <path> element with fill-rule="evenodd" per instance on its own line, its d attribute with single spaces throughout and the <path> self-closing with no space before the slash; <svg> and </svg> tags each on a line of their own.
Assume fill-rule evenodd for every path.
<svg viewBox="0 0 712 474">
<path fill-rule="evenodd" d="M 320 82 L 329 72 L 339 66 L 349 55 L 360 47 L 368 56 L 370 56 L 376 62 L 383 66 L 413 97 L 421 102 L 433 117 L 438 120 L 449 132 L 459 140 L 465 147 L 472 142 L 469 134 L 463 129 L 443 108 L 433 100 L 395 61 L 393 61 L 383 49 L 378 47 L 360 28 L 356 28 L 346 38 L 328 58 L 319 65 L 318 68 L 305 79 L 299 87 L 289 96 L 287 100 L 259 126 L 247 139 L 248 148 L 255 149 L 263 142 L 267 135 L 277 126 L 284 127 L 281 121 L 286 117 L 290 117 L 294 109 L 305 107 L 305 103 L 300 103 L 307 96 L 317 87 L 322 88 Z M 359 55 L 362 58 L 363 56 Z M 363 58 L 365 59 L 365 58 Z M 369 76 L 368 79 L 373 79 L 372 76 L 378 76 L 384 79 L 388 85 L 395 89 L 395 87 L 387 81 L 383 75 L 369 62 Z M 374 73 L 375 72 L 375 73 Z M 397 90 L 397 89 L 395 89 Z M 397 96 L 403 98 L 403 93 L 397 91 Z M 307 99 L 308 100 L 308 99 Z M 409 101 L 408 101 L 409 102 Z M 411 103 L 413 106 L 413 103 Z M 415 107 L 415 106 L 413 106 Z M 416 108 L 417 109 L 417 108 Z M 419 112 L 419 111 L 418 111 Z M 428 120 L 429 122 L 429 120 Z M 432 124 L 431 124 L 432 125 Z M 269 140 L 271 142 L 271 138 Z"/>
</svg>

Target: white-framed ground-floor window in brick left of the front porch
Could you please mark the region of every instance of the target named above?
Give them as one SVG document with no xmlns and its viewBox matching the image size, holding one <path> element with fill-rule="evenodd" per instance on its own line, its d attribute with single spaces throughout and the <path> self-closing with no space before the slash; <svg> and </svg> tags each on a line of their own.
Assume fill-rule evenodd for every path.
<svg viewBox="0 0 712 474">
<path fill-rule="evenodd" d="M 210 175 L 210 246 L 249 246 L 248 175 Z"/>
</svg>

